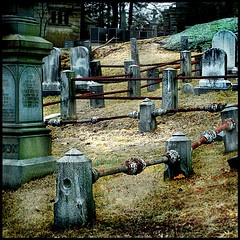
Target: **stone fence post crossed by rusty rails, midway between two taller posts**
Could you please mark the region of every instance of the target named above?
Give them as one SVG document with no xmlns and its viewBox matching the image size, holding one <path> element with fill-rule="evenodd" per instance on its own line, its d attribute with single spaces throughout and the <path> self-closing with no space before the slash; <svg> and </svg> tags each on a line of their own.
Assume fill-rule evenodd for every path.
<svg viewBox="0 0 240 240">
<path fill-rule="evenodd" d="M 130 74 L 132 78 L 140 78 L 140 67 L 137 65 L 131 65 L 129 67 Z M 141 81 L 128 81 L 128 89 L 132 89 L 132 92 L 128 92 L 129 97 L 140 97 L 141 96 Z"/>
</svg>

